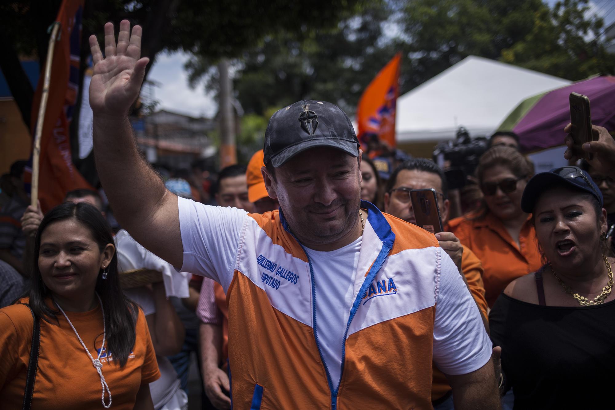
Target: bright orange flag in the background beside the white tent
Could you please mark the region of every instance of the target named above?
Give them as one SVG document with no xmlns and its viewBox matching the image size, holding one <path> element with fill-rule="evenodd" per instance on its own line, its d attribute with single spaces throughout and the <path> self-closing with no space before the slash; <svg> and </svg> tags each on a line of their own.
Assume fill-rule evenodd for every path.
<svg viewBox="0 0 615 410">
<path fill-rule="evenodd" d="M 399 95 L 399 63 L 402 54 L 392 60 L 367 86 L 357 107 L 359 141 L 363 151 L 374 136 L 389 148 L 395 147 L 395 103 Z"/>
</svg>

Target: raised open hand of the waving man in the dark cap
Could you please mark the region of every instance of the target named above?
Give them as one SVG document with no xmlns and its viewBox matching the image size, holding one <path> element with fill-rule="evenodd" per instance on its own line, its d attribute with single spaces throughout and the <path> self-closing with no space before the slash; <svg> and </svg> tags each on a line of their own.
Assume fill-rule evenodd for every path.
<svg viewBox="0 0 615 410">
<path fill-rule="evenodd" d="M 90 82 L 90 107 L 94 116 L 127 116 L 137 99 L 149 58 L 141 57 L 141 27 L 122 20 L 117 36 L 113 23 L 105 24 L 105 58 L 96 36 L 90 36 L 94 70 Z"/>
</svg>

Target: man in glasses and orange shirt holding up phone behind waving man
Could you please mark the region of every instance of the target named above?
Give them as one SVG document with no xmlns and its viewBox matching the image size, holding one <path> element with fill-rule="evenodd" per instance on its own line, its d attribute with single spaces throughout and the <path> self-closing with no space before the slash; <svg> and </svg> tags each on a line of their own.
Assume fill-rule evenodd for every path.
<svg viewBox="0 0 615 410">
<path fill-rule="evenodd" d="M 402 163 L 387 181 L 384 194 L 384 211 L 410 223 L 415 223 L 415 214 L 410 201 L 413 189 L 433 188 L 437 192 L 442 223 L 446 224 L 450 202 L 446 199 L 446 179 L 440 167 L 425 158 L 410 159 Z M 448 253 L 463 274 L 472 297 L 480 309 L 488 328 L 487 302 L 483 287 L 483 267 L 474 252 L 463 246 L 459 239 L 450 232 L 435 234 L 442 249 Z M 434 381 L 432 385 L 432 403 L 435 410 L 453 409 L 452 389 L 444 374 L 434 364 Z"/>
</svg>

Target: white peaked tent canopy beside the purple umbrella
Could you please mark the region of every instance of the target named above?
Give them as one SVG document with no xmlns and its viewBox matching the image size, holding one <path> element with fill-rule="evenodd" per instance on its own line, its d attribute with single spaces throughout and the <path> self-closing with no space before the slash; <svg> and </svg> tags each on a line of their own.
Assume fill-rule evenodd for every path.
<svg viewBox="0 0 615 410">
<path fill-rule="evenodd" d="M 464 126 L 488 136 L 531 95 L 571 81 L 526 68 L 470 56 L 397 98 L 397 142 L 451 140 Z"/>
</svg>

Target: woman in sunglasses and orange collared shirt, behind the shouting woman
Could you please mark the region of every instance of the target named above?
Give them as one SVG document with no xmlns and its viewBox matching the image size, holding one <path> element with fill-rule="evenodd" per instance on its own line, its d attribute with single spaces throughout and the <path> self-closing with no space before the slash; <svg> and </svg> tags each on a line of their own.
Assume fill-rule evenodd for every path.
<svg viewBox="0 0 615 410">
<path fill-rule="evenodd" d="M 451 220 L 448 230 L 483 263 L 485 299 L 491 307 L 513 279 L 542 265 L 530 214 L 521 209 L 534 167 L 514 148 L 494 147 L 480 158 L 476 173 L 483 205 Z"/>
</svg>

